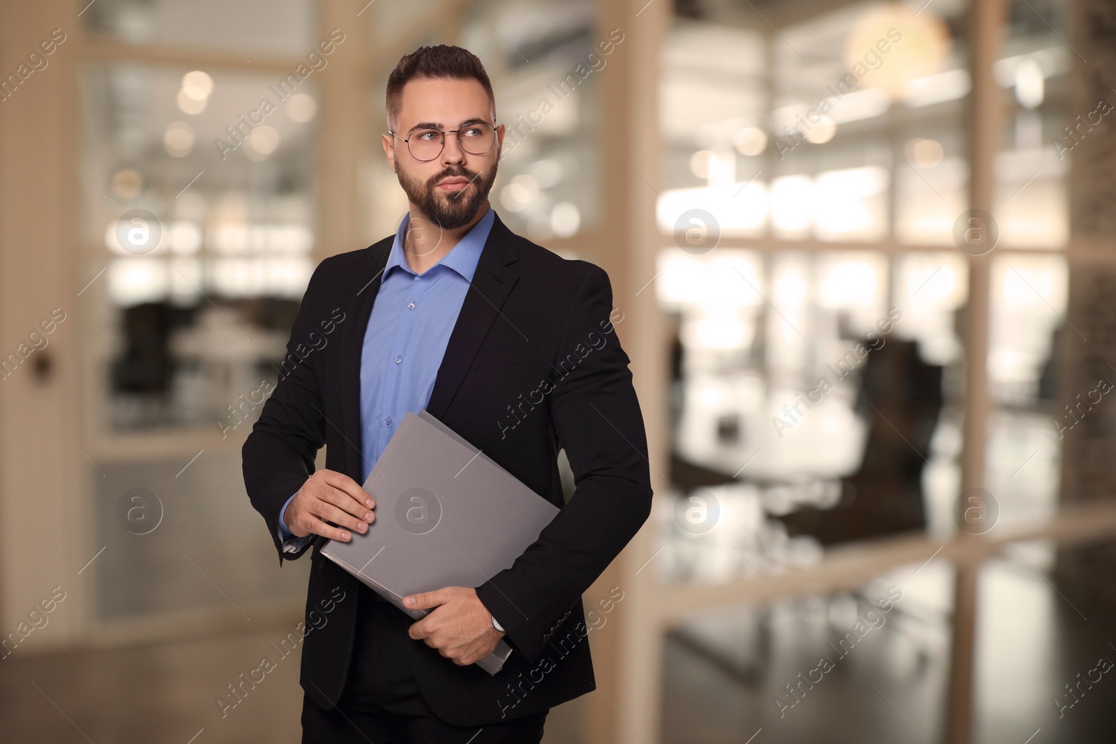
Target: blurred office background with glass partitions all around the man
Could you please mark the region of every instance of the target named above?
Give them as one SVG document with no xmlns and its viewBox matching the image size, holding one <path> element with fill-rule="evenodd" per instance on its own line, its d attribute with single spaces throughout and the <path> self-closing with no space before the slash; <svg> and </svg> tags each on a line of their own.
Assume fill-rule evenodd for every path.
<svg viewBox="0 0 1116 744">
<path fill-rule="evenodd" d="M 1114 17 L 2 3 L 6 741 L 298 741 L 297 654 L 217 702 L 308 568 L 240 445 L 316 263 L 406 210 L 384 85 L 439 42 L 492 77 L 501 219 L 608 270 L 651 439 L 546 742 L 1110 741 Z"/>
</svg>

